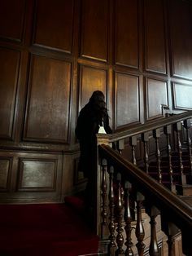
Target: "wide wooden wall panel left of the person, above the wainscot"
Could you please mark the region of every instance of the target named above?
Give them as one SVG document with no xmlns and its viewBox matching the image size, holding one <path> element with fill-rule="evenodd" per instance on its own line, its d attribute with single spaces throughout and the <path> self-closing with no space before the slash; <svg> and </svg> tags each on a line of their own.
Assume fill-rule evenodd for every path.
<svg viewBox="0 0 192 256">
<path fill-rule="evenodd" d="M 25 140 L 68 143 L 70 86 L 70 63 L 33 55 Z"/>
</svg>

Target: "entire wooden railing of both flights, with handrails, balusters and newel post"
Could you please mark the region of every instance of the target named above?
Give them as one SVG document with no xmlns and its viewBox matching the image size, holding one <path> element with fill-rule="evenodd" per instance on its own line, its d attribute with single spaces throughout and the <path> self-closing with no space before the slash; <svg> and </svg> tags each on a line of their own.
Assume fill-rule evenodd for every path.
<svg viewBox="0 0 192 256">
<path fill-rule="evenodd" d="M 109 251 L 114 255 L 144 255 L 145 248 L 149 248 L 150 255 L 160 255 L 157 233 L 155 231 L 155 218 L 160 215 L 162 230 L 168 236 L 168 255 L 172 255 L 172 237 L 178 232 L 182 236 L 182 249 L 186 255 L 192 255 L 192 245 L 187 234 L 192 231 L 192 210 L 189 205 L 175 195 L 172 190 L 172 164 L 170 153 L 170 127 L 178 127 L 181 121 L 187 123 L 187 144 L 191 150 L 189 120 L 192 112 L 181 113 L 161 120 L 149 122 L 146 125 L 133 127 L 129 130 L 116 132 L 112 135 L 98 135 L 98 203 L 97 203 L 97 233 L 102 239 L 109 240 Z M 184 126 L 184 128 L 186 125 Z M 161 183 L 159 129 L 165 131 L 168 142 L 168 167 L 170 186 L 165 188 Z M 173 130 L 173 129 L 172 129 Z M 177 134 L 177 149 L 181 156 L 180 129 Z M 158 161 L 158 180 L 152 179 L 148 174 L 148 139 L 147 134 L 152 131 L 156 143 L 156 157 Z M 124 139 L 130 140 L 132 146 L 132 162 L 122 157 Z M 137 167 L 135 148 L 137 138 L 144 144 L 145 171 Z M 117 150 L 111 148 L 116 143 Z M 191 152 L 190 152 L 191 163 Z M 182 163 L 180 170 L 183 174 Z M 116 177 L 116 179 L 114 178 Z M 181 184 L 185 179 L 181 178 Z M 101 185 L 103 184 L 103 185 Z M 115 184 L 115 185 L 114 185 Z M 130 199 L 131 198 L 131 199 Z M 133 205 L 131 208 L 130 205 Z M 137 205 L 137 207 L 135 207 Z M 145 245 L 143 239 L 145 231 L 142 220 L 142 210 L 151 218 L 151 242 Z M 136 209 L 136 213 L 135 213 Z M 132 212 L 132 214 L 130 214 Z M 133 223 L 135 222 L 135 227 Z M 133 229 L 135 235 L 133 238 Z M 125 234 L 125 235 L 123 235 Z M 124 236 L 126 237 L 124 239 Z M 133 240 L 137 244 L 133 246 Z"/>
</svg>

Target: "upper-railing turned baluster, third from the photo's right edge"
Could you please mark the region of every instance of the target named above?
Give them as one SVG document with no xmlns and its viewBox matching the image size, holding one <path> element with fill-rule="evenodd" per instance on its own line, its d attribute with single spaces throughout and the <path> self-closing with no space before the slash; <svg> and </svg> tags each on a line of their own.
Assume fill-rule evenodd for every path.
<svg viewBox="0 0 192 256">
<path fill-rule="evenodd" d="M 170 136 L 172 134 L 172 126 L 165 126 L 164 127 L 164 134 L 167 138 L 167 154 L 168 154 L 168 173 L 169 173 L 169 182 L 170 182 L 170 190 L 176 193 L 175 185 L 172 183 L 172 148 L 170 143 Z"/>
</svg>

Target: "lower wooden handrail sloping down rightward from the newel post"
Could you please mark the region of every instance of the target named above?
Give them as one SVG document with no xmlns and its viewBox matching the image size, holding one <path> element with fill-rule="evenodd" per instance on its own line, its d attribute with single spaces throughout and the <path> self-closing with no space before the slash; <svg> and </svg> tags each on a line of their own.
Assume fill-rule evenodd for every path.
<svg viewBox="0 0 192 256">
<path fill-rule="evenodd" d="M 181 201 L 179 196 L 170 192 L 164 185 L 121 157 L 118 152 L 109 146 L 99 145 L 98 150 L 102 157 L 106 157 L 125 177 L 128 177 L 133 185 L 139 188 L 140 192 L 146 197 L 146 201 L 149 199 L 151 205 L 155 205 L 168 221 L 174 223 L 185 235 L 192 232 L 192 209 L 184 201 Z"/>
</svg>

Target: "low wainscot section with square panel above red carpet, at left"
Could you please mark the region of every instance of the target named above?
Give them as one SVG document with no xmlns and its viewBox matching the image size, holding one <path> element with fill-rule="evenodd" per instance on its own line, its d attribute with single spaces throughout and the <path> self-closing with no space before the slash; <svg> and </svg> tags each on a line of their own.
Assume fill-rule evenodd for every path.
<svg viewBox="0 0 192 256">
<path fill-rule="evenodd" d="M 61 200 L 62 153 L 2 151 L 0 155 L 1 203 Z M 70 161 L 64 161 L 64 166 L 70 165 Z"/>
</svg>

